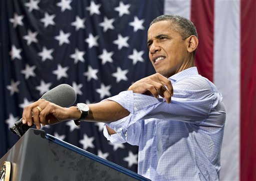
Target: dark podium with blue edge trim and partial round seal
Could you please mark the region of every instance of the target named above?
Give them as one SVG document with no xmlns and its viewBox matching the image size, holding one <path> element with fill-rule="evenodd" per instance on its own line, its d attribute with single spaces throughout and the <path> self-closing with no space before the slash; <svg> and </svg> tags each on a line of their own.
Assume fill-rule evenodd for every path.
<svg viewBox="0 0 256 181">
<path fill-rule="evenodd" d="M 10 181 L 150 181 L 114 163 L 29 129 L 0 159 Z"/>
</svg>

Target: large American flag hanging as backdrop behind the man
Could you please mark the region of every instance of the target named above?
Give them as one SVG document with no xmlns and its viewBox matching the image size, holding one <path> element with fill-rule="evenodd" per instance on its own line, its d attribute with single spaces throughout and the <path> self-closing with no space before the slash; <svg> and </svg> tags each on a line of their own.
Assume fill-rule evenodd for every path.
<svg viewBox="0 0 256 181">
<path fill-rule="evenodd" d="M 256 180 L 254 0 L 0 0 L 0 157 L 17 141 L 9 127 L 23 107 L 51 88 L 69 84 L 76 102 L 89 104 L 154 73 L 146 31 L 163 13 L 194 22 L 196 66 L 222 92 L 227 119 L 220 180 Z M 109 143 L 100 123 L 42 129 L 137 170 L 137 147 Z"/>
</svg>

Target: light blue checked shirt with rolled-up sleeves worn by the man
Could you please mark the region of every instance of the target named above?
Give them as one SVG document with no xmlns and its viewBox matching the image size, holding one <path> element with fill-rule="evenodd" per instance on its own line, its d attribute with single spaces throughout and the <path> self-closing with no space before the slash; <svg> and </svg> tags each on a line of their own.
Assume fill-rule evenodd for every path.
<svg viewBox="0 0 256 181">
<path fill-rule="evenodd" d="M 130 114 L 106 125 L 113 143 L 137 145 L 138 174 L 153 181 L 216 181 L 225 123 L 222 96 L 196 67 L 169 77 L 171 103 L 124 91 L 108 100 Z"/>
</svg>

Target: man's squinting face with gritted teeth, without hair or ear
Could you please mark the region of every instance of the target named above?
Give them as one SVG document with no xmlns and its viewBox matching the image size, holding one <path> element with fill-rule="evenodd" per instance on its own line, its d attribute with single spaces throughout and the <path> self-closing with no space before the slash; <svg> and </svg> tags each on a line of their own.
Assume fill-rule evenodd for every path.
<svg viewBox="0 0 256 181">
<path fill-rule="evenodd" d="M 157 73 L 170 77 L 187 68 L 187 39 L 173 31 L 170 21 L 153 23 L 147 32 L 149 59 Z"/>
</svg>

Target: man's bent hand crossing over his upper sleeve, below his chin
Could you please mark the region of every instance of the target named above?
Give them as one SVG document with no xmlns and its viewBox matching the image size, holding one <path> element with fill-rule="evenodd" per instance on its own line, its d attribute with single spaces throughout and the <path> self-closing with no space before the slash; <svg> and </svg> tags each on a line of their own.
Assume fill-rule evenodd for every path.
<svg viewBox="0 0 256 181">
<path fill-rule="evenodd" d="M 160 95 L 167 103 L 170 103 L 171 96 L 173 95 L 170 80 L 159 73 L 136 81 L 128 90 L 132 90 L 133 93 L 153 95 L 155 98 L 158 98 Z"/>
</svg>

